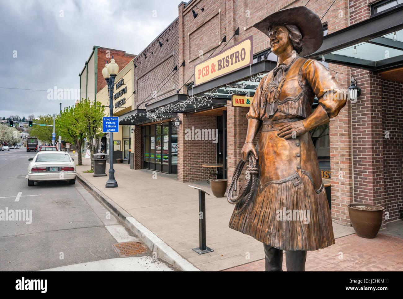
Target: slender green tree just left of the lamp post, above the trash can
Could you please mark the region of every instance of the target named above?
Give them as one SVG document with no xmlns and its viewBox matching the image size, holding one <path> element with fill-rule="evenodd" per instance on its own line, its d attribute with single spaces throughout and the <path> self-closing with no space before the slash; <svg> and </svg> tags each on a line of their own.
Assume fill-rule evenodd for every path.
<svg viewBox="0 0 403 299">
<path fill-rule="evenodd" d="M 82 99 L 83 104 L 81 115 L 85 124 L 85 135 L 88 140 L 89 151 L 91 152 L 91 170 L 94 168 L 94 161 L 92 155 L 96 153 L 98 148 L 99 138 L 102 133 L 102 117 L 104 116 L 104 107 L 101 102 L 93 102 L 88 99 Z M 93 144 L 95 140 L 95 145 Z"/>
</svg>

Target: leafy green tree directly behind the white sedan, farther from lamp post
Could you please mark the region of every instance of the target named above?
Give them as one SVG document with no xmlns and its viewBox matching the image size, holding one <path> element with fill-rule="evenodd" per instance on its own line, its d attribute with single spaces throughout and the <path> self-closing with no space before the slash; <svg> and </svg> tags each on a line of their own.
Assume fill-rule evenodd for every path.
<svg viewBox="0 0 403 299">
<path fill-rule="evenodd" d="M 60 118 L 56 122 L 56 128 L 65 141 L 74 143 L 78 152 L 78 165 L 82 165 L 81 146 L 84 142 L 86 125 L 83 119 L 84 104 L 82 102 L 75 106 L 64 108 Z"/>
</svg>

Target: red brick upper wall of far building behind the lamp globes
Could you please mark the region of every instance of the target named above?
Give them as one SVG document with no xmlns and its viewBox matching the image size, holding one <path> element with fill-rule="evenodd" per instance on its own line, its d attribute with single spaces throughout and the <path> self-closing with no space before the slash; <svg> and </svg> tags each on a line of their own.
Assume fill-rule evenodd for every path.
<svg viewBox="0 0 403 299">
<path fill-rule="evenodd" d="M 112 56 L 115 62 L 119 66 L 119 71 L 123 69 L 133 58 L 137 55 L 129 54 L 125 51 L 115 50 L 110 48 L 99 48 L 98 49 L 98 68 L 97 68 L 97 92 L 105 87 L 106 81 L 104 76 L 102 76 L 102 69 L 104 69 L 106 60 L 110 62 Z"/>
</svg>

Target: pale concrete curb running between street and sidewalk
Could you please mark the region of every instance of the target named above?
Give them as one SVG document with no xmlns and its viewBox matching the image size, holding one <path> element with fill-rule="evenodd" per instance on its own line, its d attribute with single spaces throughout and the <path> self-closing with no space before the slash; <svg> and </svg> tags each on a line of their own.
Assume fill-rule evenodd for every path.
<svg viewBox="0 0 403 299">
<path fill-rule="evenodd" d="M 110 210 L 115 212 L 117 216 L 122 219 L 127 226 L 139 237 L 140 241 L 143 242 L 151 251 L 156 252 L 157 256 L 172 264 L 172 266 L 181 269 L 182 271 L 200 271 L 198 268 L 193 266 L 185 258 L 183 258 L 179 253 L 174 251 L 172 247 L 166 244 L 162 239 L 155 235 L 151 230 L 146 228 L 143 224 L 138 222 L 133 216 L 127 213 L 123 208 L 121 208 L 112 199 L 107 197 L 105 194 L 101 193 L 98 189 L 93 187 L 86 179 L 77 173 L 76 179 L 78 179 L 85 187 L 90 189 L 93 194 L 100 199 Z"/>
</svg>

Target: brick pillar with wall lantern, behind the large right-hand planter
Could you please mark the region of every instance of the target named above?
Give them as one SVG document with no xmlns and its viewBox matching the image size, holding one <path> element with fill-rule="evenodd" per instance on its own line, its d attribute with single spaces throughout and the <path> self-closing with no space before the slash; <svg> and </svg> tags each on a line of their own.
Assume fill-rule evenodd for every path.
<svg viewBox="0 0 403 299">
<path fill-rule="evenodd" d="M 352 103 L 354 201 L 384 204 L 380 77 L 352 69 L 361 96 Z"/>
</svg>

